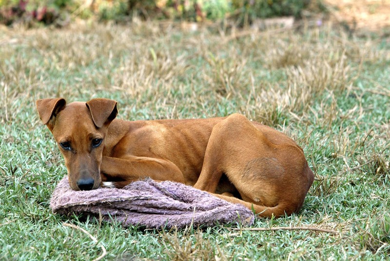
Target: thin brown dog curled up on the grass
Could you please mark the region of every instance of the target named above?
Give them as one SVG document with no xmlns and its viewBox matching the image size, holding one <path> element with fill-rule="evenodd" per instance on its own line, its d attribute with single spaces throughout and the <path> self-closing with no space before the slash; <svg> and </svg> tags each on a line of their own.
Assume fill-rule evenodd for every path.
<svg viewBox="0 0 390 261">
<path fill-rule="evenodd" d="M 298 211 L 313 182 L 303 150 L 240 114 L 193 120 L 114 120 L 117 102 L 37 100 L 74 190 L 150 177 L 241 203 L 264 217 Z"/>
</svg>

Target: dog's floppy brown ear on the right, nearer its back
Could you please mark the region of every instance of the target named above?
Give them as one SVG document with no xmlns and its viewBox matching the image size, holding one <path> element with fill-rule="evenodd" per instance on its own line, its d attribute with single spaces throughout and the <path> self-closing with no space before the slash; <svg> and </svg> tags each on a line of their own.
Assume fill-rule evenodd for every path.
<svg viewBox="0 0 390 261">
<path fill-rule="evenodd" d="M 117 117 L 118 109 L 115 100 L 97 98 L 87 101 L 95 125 L 101 128 L 105 124 L 110 124 Z"/>
</svg>

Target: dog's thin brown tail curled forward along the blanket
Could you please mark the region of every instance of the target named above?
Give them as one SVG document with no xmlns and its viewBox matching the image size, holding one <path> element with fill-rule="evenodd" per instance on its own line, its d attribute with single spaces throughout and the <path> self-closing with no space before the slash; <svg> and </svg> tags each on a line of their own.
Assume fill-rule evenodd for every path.
<svg viewBox="0 0 390 261">
<path fill-rule="evenodd" d="M 264 218 L 271 218 L 272 216 L 278 218 L 285 215 L 291 215 L 293 212 L 296 212 L 300 209 L 299 207 L 292 208 L 291 206 L 288 206 L 286 204 L 280 203 L 273 207 L 263 206 L 263 205 L 256 205 L 251 202 L 243 201 L 234 197 L 220 195 L 220 194 L 213 194 L 215 197 L 220 198 L 225 201 L 229 201 L 231 203 L 235 204 L 241 204 L 246 206 L 247 208 L 254 211 L 254 213 L 259 217 Z"/>
</svg>

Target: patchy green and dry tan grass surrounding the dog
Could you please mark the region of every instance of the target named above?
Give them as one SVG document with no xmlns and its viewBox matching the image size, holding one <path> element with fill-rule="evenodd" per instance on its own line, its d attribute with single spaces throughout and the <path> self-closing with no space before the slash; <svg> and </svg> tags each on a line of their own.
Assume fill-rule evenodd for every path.
<svg viewBox="0 0 390 261">
<path fill-rule="evenodd" d="M 330 26 L 228 41 L 154 23 L 0 30 L 0 259 L 89 260 L 100 244 L 108 260 L 389 258 L 388 39 Z M 54 215 L 50 196 L 66 169 L 36 113 L 46 97 L 115 99 L 127 120 L 240 112 L 271 125 L 304 148 L 316 181 L 298 214 L 254 227 L 341 235 L 124 229 Z"/>
</svg>

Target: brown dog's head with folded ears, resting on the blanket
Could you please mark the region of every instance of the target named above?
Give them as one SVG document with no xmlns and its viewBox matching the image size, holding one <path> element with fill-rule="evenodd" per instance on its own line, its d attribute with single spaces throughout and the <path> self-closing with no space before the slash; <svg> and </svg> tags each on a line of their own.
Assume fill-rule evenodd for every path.
<svg viewBox="0 0 390 261">
<path fill-rule="evenodd" d="M 104 139 L 117 116 L 117 102 L 92 99 L 66 104 L 64 99 L 56 98 L 37 100 L 36 105 L 65 159 L 71 188 L 98 188 Z"/>
</svg>

